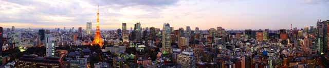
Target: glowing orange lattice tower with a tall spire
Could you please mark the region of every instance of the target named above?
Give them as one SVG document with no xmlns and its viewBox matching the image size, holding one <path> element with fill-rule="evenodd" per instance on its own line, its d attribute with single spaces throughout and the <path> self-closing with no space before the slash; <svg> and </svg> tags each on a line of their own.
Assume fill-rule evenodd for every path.
<svg viewBox="0 0 329 68">
<path fill-rule="evenodd" d="M 93 44 L 98 44 L 100 47 L 103 46 L 103 40 L 101 38 L 100 30 L 99 30 L 99 9 L 97 9 L 97 25 L 96 25 L 96 34 L 94 37 Z"/>
</svg>

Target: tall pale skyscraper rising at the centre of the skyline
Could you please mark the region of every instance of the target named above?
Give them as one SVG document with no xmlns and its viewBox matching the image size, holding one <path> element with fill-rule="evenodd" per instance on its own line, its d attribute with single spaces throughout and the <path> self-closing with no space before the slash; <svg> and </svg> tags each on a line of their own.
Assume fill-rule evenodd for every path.
<svg viewBox="0 0 329 68">
<path fill-rule="evenodd" d="M 164 23 L 162 28 L 162 52 L 171 52 L 171 40 L 170 40 L 170 25 L 169 23 Z"/>
</svg>

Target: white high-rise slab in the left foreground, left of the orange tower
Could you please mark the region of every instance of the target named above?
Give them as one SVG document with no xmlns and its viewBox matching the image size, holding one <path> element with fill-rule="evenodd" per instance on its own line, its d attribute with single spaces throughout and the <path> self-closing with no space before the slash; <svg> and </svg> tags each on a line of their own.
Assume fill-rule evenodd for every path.
<svg viewBox="0 0 329 68">
<path fill-rule="evenodd" d="M 45 35 L 46 56 L 55 56 L 55 43 L 56 41 L 50 34 Z"/>
</svg>

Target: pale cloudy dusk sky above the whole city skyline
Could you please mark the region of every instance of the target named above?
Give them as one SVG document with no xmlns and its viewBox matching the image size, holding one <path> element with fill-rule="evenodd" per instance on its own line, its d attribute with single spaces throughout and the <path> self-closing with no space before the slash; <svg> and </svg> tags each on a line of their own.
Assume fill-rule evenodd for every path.
<svg viewBox="0 0 329 68">
<path fill-rule="evenodd" d="M 282 29 L 315 25 L 329 19 L 329 0 L 0 0 L 0 26 L 16 28 L 96 26 L 99 5 L 101 29 L 190 26 L 200 29 Z"/>
</svg>

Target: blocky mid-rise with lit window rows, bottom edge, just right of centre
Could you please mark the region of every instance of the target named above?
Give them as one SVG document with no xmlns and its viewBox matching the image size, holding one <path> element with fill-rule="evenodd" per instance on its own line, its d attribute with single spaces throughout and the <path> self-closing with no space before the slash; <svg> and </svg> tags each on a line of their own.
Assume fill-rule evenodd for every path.
<svg viewBox="0 0 329 68">
<path fill-rule="evenodd" d="M 196 56 L 193 54 L 192 49 L 182 51 L 181 54 L 177 54 L 177 63 L 181 64 L 183 68 L 195 68 Z"/>
</svg>

